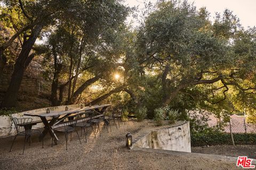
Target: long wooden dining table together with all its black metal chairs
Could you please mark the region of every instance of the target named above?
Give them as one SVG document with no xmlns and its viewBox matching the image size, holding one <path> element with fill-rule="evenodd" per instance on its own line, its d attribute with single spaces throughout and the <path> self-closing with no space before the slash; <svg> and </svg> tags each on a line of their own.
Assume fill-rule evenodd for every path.
<svg viewBox="0 0 256 170">
<path fill-rule="evenodd" d="M 17 130 L 17 134 L 13 139 L 10 151 L 12 150 L 13 143 L 18 135 L 22 135 L 25 137 L 22 154 L 24 153 L 25 145 L 27 141 L 29 141 L 29 145 L 30 145 L 31 135 L 33 134 L 39 134 L 39 141 L 42 141 L 42 147 L 44 147 L 44 137 L 47 133 L 49 133 L 51 136 L 51 142 L 52 142 L 51 146 L 53 147 L 53 142 L 55 143 L 55 145 L 57 145 L 59 141 L 59 138 L 57 137 L 57 134 L 55 132 L 65 133 L 66 149 L 68 149 L 67 142 L 68 142 L 69 133 L 70 133 L 70 138 L 72 138 L 71 134 L 72 132 L 75 132 L 77 134 L 79 142 L 82 144 L 77 128 L 81 129 L 81 137 L 82 137 L 82 132 L 84 132 L 85 142 L 87 142 L 86 135 L 87 135 L 88 128 L 91 128 L 94 137 L 96 137 L 95 133 L 99 132 L 99 134 L 101 135 L 101 131 L 100 131 L 101 122 L 106 127 L 107 132 L 109 132 L 108 126 L 111 131 L 110 120 L 113 120 L 113 122 L 116 125 L 116 128 L 117 128 L 117 124 L 119 126 L 119 121 L 122 120 L 121 119 L 122 109 L 108 108 L 109 106 L 111 106 L 111 104 L 94 105 L 94 106 L 86 106 L 86 107 L 81 105 L 81 107 L 74 108 L 74 109 L 69 109 L 68 106 L 66 106 L 65 111 L 50 111 L 50 109 L 48 108 L 46 109 L 46 112 L 43 112 L 43 113 L 24 114 L 24 116 L 39 117 L 41 118 L 41 120 L 39 121 L 33 121 L 31 117 L 28 117 L 28 118 L 13 117 L 12 120 L 15 125 L 15 129 Z M 125 122 L 124 121 L 122 122 L 125 125 Z M 37 123 L 44 124 L 44 129 L 42 132 L 37 129 L 32 129 L 33 125 L 36 125 Z M 97 129 L 97 132 L 96 132 L 96 129 Z"/>
</svg>

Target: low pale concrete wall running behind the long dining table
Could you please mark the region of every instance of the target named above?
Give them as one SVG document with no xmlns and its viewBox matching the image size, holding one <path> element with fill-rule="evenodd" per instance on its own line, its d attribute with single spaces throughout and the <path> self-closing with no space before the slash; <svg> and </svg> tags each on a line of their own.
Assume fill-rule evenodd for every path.
<svg viewBox="0 0 256 170">
<path fill-rule="evenodd" d="M 80 107 L 81 104 L 77 105 L 67 105 L 68 108 L 78 108 Z M 84 105 L 84 104 L 83 104 Z M 40 108 L 40 109 L 35 109 L 31 111 L 26 111 L 26 112 L 21 112 L 17 114 L 12 114 L 11 117 L 18 117 L 18 118 L 23 118 L 23 117 L 31 117 L 33 121 L 36 120 L 41 120 L 39 117 L 32 117 L 32 116 L 24 116 L 25 113 L 45 113 L 47 108 L 50 108 L 51 111 L 65 111 L 65 106 L 55 106 L 55 107 L 45 107 L 45 108 Z M 15 126 L 11 120 L 11 117 L 9 116 L 0 116 L 0 137 L 7 137 L 9 135 L 15 135 L 16 130 Z M 38 123 L 33 126 L 33 129 L 38 129 L 38 128 L 43 128 L 43 123 Z"/>
</svg>

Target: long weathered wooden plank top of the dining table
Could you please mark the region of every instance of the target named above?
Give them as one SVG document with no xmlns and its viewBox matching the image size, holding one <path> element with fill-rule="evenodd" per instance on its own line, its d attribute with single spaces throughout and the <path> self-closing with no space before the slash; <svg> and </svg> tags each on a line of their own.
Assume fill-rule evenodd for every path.
<svg viewBox="0 0 256 170">
<path fill-rule="evenodd" d="M 51 111 L 50 113 L 41 112 L 41 113 L 26 113 L 25 116 L 38 116 L 38 117 L 55 117 L 55 116 L 61 116 L 61 115 L 67 115 L 67 114 L 73 114 L 73 113 L 79 113 L 79 112 L 94 112 L 95 109 L 101 110 L 102 108 L 108 107 L 111 104 L 106 105 L 93 105 L 91 107 L 85 106 L 84 108 L 74 108 L 69 109 L 68 111 Z"/>
</svg>

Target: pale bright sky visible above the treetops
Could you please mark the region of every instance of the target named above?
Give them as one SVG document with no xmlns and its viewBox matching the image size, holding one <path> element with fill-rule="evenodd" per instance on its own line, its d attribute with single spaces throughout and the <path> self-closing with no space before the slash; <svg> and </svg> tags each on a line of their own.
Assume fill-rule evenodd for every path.
<svg viewBox="0 0 256 170">
<path fill-rule="evenodd" d="M 139 8 L 143 8 L 144 1 L 149 2 L 149 0 L 126 0 L 124 4 L 129 6 L 139 5 Z M 157 0 L 150 0 L 150 2 L 155 3 Z M 197 9 L 205 6 L 211 13 L 212 20 L 215 12 L 222 13 L 228 8 L 240 19 L 244 28 L 256 26 L 256 0 L 188 0 L 188 2 L 194 2 Z M 132 20 L 132 17 L 127 20 Z M 137 23 L 134 22 L 134 24 Z"/>
</svg>

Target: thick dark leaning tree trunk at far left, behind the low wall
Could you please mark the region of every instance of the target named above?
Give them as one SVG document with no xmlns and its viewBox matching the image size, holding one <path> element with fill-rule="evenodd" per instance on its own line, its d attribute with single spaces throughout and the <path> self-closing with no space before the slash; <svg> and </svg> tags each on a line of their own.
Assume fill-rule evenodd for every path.
<svg viewBox="0 0 256 170">
<path fill-rule="evenodd" d="M 1 107 L 10 108 L 15 106 L 17 102 L 18 91 L 23 78 L 23 74 L 25 73 L 26 67 L 34 58 L 34 54 L 29 55 L 29 53 L 33 45 L 35 44 L 35 41 L 42 29 L 43 29 L 43 23 L 36 25 L 35 28 L 32 30 L 32 33 L 28 38 L 28 40 L 26 40 L 25 38 L 25 41 L 23 42 L 23 45 L 22 45 L 21 52 L 14 65 L 11 82 L 5 93 L 4 100 L 2 102 Z"/>
</svg>

